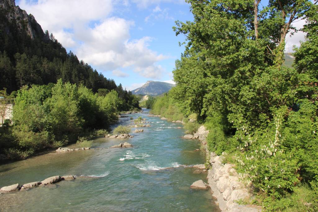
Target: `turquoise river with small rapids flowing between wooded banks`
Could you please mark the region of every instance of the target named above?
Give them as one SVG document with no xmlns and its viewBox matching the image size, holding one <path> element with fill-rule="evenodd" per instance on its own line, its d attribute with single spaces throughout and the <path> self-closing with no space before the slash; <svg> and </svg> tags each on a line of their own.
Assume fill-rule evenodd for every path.
<svg viewBox="0 0 318 212">
<path fill-rule="evenodd" d="M 139 116 L 153 122 L 142 127 L 144 132 L 130 133 L 133 138 L 97 138 L 91 150 L 52 151 L 1 165 L 0 187 L 55 175 L 93 177 L 0 194 L 0 211 L 219 211 L 210 189 L 190 189 L 194 181 L 206 182 L 207 174 L 179 167 L 204 163 L 204 153 L 194 151 L 199 142 L 183 139 L 181 124 L 148 117 L 148 112 L 129 114 L 116 124 L 131 125 L 130 117 Z M 109 148 L 124 141 L 134 147 Z M 174 168 L 162 169 L 167 167 Z"/>
</svg>

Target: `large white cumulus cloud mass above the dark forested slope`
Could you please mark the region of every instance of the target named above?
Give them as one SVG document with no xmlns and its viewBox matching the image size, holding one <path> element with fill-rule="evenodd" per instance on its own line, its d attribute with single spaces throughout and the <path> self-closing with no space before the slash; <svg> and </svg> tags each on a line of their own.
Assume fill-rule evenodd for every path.
<svg viewBox="0 0 318 212">
<path fill-rule="evenodd" d="M 128 5 L 128 1 L 123 3 Z M 111 0 L 19 2 L 22 9 L 36 17 L 43 29 L 52 32 L 66 48 L 72 47 L 78 58 L 86 63 L 103 71 L 131 67 L 143 77 L 160 79 L 164 69 L 157 62 L 167 57 L 149 48 L 152 38 L 131 39 L 129 31 L 135 23 L 109 17 L 113 4 Z M 158 6 L 154 10 L 161 9 Z M 113 74 L 124 77 L 118 71 Z"/>
</svg>

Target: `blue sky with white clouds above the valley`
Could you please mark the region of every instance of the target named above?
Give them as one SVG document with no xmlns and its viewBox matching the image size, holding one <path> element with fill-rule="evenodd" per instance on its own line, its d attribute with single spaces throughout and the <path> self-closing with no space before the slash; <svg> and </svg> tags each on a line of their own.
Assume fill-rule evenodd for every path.
<svg viewBox="0 0 318 212">
<path fill-rule="evenodd" d="M 148 80 L 174 83 L 172 70 L 184 51 L 179 46 L 184 37 L 176 37 L 172 27 L 176 20 L 193 20 L 184 0 L 18 0 L 16 5 L 66 51 L 127 90 Z M 285 50 L 291 52 L 304 33 L 286 38 Z"/>
</svg>

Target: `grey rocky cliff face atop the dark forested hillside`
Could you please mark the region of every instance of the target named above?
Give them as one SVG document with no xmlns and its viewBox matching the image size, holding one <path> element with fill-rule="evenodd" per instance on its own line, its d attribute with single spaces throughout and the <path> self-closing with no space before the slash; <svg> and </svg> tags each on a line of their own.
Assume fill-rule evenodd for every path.
<svg viewBox="0 0 318 212">
<path fill-rule="evenodd" d="M 34 38 L 45 38 L 44 32 L 30 14 L 28 15 L 25 10 L 21 10 L 16 6 L 15 0 L 0 0 L 0 14 L 7 19 L 10 24 L 16 24 L 20 32 L 25 32 L 27 35 Z M 5 22 L 0 23 L 1 29 L 10 33 L 10 27 Z"/>
</svg>

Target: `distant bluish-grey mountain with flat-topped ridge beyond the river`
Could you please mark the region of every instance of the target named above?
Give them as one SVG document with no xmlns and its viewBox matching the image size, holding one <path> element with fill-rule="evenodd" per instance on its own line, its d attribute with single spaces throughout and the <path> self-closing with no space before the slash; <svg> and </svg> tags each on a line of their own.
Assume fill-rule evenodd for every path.
<svg viewBox="0 0 318 212">
<path fill-rule="evenodd" d="M 156 96 L 168 92 L 173 86 L 175 85 L 167 82 L 147 81 L 141 87 L 133 90 L 132 93 Z"/>
</svg>

